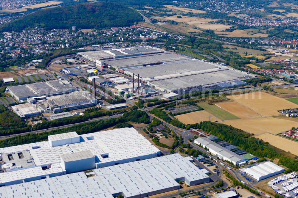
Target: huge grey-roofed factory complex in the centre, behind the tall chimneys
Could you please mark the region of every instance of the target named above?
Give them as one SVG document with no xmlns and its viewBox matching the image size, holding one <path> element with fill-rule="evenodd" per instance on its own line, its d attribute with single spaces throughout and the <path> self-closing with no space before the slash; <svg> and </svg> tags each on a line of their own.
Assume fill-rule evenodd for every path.
<svg viewBox="0 0 298 198">
<path fill-rule="evenodd" d="M 105 51 L 80 52 L 97 65 L 106 64 L 117 71 L 140 78 L 163 92 L 182 94 L 206 89 L 223 89 L 247 85 L 242 80 L 255 76 L 204 60 L 139 46 Z M 111 76 L 117 78 L 117 76 Z M 126 82 L 123 79 L 123 82 Z M 128 82 L 128 81 L 127 81 Z M 122 81 L 120 81 L 122 83 Z"/>
</svg>

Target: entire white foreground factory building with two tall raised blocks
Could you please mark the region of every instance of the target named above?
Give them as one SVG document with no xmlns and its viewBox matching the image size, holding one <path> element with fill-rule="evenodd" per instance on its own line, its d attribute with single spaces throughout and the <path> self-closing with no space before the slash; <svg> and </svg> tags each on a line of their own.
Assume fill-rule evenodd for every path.
<svg viewBox="0 0 298 198">
<path fill-rule="evenodd" d="M 0 186 L 157 157 L 160 151 L 134 128 L 78 135 L 0 149 Z"/>
</svg>

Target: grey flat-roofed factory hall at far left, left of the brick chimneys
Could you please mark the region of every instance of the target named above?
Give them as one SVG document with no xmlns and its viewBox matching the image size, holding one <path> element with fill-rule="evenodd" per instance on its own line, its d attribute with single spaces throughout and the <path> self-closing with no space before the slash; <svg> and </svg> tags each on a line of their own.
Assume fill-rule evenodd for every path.
<svg viewBox="0 0 298 198">
<path fill-rule="evenodd" d="M 53 96 L 68 94 L 77 91 L 77 88 L 69 84 L 66 80 L 53 80 L 47 82 L 32 83 L 26 85 L 17 85 L 6 88 L 8 93 L 18 101 L 27 100 L 27 98 L 40 96 Z"/>
</svg>

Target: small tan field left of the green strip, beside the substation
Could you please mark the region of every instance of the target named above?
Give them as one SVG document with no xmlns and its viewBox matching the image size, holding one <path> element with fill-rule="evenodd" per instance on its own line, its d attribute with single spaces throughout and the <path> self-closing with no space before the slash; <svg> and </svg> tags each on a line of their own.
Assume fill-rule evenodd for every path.
<svg viewBox="0 0 298 198">
<path fill-rule="evenodd" d="M 184 124 L 195 124 L 203 121 L 208 121 L 210 116 L 210 121 L 215 122 L 216 117 L 209 114 L 207 111 L 195 111 L 187 114 L 182 114 L 175 116 L 180 122 Z"/>
</svg>

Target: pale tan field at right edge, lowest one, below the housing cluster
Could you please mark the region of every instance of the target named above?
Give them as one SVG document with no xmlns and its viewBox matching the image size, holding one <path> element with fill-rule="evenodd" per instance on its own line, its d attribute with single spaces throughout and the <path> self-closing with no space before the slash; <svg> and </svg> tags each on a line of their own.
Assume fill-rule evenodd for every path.
<svg viewBox="0 0 298 198">
<path fill-rule="evenodd" d="M 256 138 L 263 139 L 263 141 L 269 142 L 274 147 L 277 147 L 285 152 L 290 151 L 294 155 L 298 155 L 298 142 L 283 138 L 281 136 L 272 135 L 270 133 L 263 133 L 255 136 Z"/>
</svg>

